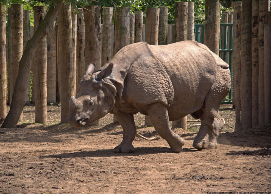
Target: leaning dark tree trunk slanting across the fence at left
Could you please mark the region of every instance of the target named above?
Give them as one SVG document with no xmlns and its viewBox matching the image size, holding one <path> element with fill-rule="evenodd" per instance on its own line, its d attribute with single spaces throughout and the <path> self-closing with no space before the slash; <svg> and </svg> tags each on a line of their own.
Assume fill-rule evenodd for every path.
<svg viewBox="0 0 271 194">
<path fill-rule="evenodd" d="M 33 37 L 26 43 L 26 48 L 24 50 L 23 56 L 19 64 L 19 73 L 16 79 L 13 101 L 11 102 L 10 110 L 8 115 L 2 124 L 2 128 L 12 128 L 15 127 L 19 118 L 20 113 L 23 111 L 25 105 L 24 102 L 24 92 L 26 90 L 25 80 L 30 77 L 30 64 L 36 52 L 39 42 L 48 33 L 50 27 L 52 26 L 55 18 L 62 7 L 63 2 L 58 1 L 57 5 L 51 7 L 46 14 L 44 20 L 39 25 L 38 29 L 34 33 Z"/>
</svg>

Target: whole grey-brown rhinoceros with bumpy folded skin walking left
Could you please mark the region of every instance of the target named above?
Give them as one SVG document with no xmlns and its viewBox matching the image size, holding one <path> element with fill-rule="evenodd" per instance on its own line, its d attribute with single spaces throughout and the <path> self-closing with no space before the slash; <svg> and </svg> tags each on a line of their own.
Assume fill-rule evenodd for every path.
<svg viewBox="0 0 271 194">
<path fill-rule="evenodd" d="M 184 139 L 173 133 L 169 121 L 188 114 L 201 120 L 193 146 L 216 149 L 225 123 L 218 114 L 229 93 L 228 64 L 195 41 L 153 46 L 146 42 L 121 49 L 98 72 L 90 64 L 77 99 L 70 98 L 70 125 L 81 127 L 112 113 L 123 127 L 123 140 L 115 152 L 134 152 L 133 114 L 148 115 L 157 133 L 174 152 Z"/>
</svg>

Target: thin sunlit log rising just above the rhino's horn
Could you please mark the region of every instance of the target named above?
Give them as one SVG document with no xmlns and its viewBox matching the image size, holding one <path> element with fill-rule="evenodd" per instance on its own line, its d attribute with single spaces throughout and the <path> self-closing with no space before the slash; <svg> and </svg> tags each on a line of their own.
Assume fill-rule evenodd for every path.
<svg viewBox="0 0 271 194">
<path fill-rule="evenodd" d="M 76 74 L 76 59 L 77 59 L 77 54 L 76 54 L 76 51 L 77 51 L 77 49 L 76 49 L 76 40 L 77 40 L 77 38 L 76 38 L 76 36 L 77 36 L 77 14 L 75 14 L 75 9 L 73 8 L 73 6 L 71 7 L 71 16 L 72 16 L 72 32 L 73 32 L 73 70 L 74 70 L 74 75 L 75 75 L 75 79 L 74 79 L 74 85 L 75 85 L 75 91 L 76 90 L 78 90 L 77 88 L 76 88 L 76 79 L 78 79 L 77 78 L 77 74 Z"/>
</svg>

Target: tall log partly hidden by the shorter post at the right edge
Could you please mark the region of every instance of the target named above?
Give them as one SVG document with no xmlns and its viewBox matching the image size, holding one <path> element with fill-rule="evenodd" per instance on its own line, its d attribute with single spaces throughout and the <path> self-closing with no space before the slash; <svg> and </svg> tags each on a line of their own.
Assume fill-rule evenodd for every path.
<svg viewBox="0 0 271 194">
<path fill-rule="evenodd" d="M 264 30 L 266 16 L 270 9 L 269 0 L 259 0 L 259 125 L 264 124 Z"/>
</svg>

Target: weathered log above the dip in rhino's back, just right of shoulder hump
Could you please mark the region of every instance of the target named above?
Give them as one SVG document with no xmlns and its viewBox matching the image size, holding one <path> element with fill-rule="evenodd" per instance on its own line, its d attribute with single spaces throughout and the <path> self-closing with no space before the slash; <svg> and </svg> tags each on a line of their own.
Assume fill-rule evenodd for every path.
<svg viewBox="0 0 271 194">
<path fill-rule="evenodd" d="M 168 44 L 167 7 L 159 7 L 158 45 Z"/>
</svg>

